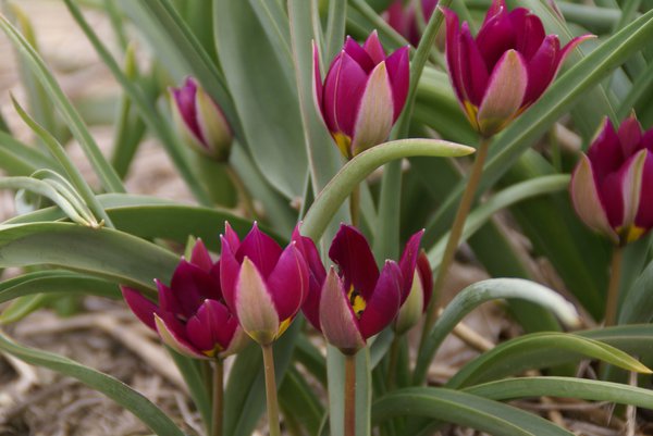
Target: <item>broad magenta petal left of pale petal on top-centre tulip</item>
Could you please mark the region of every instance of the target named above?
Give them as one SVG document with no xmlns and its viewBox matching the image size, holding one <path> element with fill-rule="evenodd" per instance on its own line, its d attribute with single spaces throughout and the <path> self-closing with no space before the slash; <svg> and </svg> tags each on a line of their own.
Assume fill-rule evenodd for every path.
<svg viewBox="0 0 653 436">
<path fill-rule="evenodd" d="M 342 132 L 349 137 L 354 135 L 356 113 L 366 83 L 367 73 L 343 51 L 324 83 L 324 119 L 332 133 Z"/>
</svg>

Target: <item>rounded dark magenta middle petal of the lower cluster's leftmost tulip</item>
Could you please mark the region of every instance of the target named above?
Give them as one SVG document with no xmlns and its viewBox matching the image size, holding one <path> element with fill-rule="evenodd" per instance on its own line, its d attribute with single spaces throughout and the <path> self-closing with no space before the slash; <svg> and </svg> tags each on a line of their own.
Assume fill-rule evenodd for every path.
<svg viewBox="0 0 653 436">
<path fill-rule="evenodd" d="M 207 299 L 186 323 L 186 334 L 195 348 L 215 357 L 229 347 L 237 327 L 238 321 L 224 304 Z"/>
</svg>

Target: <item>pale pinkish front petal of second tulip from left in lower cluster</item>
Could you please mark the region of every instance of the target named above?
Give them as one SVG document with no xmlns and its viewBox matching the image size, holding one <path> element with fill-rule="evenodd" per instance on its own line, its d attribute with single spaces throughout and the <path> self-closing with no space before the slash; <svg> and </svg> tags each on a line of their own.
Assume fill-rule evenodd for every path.
<svg viewBox="0 0 653 436">
<path fill-rule="evenodd" d="M 279 315 L 263 277 L 249 258 L 241 265 L 235 303 L 245 333 L 261 345 L 272 344 L 279 332 Z"/>
</svg>

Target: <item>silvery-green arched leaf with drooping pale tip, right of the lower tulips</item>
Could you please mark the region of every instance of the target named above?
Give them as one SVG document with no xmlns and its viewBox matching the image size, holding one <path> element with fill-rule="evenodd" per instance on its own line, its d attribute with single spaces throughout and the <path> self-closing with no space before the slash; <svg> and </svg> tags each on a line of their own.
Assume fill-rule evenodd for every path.
<svg viewBox="0 0 653 436">
<path fill-rule="evenodd" d="M 522 278 L 490 278 L 477 282 L 454 297 L 429 332 L 417 358 L 414 382 L 421 384 L 424 381 L 438 348 L 465 315 L 484 302 L 503 298 L 528 300 L 547 308 L 568 325 L 578 323 L 578 313 L 574 306 L 559 294 L 540 284 Z"/>
</svg>

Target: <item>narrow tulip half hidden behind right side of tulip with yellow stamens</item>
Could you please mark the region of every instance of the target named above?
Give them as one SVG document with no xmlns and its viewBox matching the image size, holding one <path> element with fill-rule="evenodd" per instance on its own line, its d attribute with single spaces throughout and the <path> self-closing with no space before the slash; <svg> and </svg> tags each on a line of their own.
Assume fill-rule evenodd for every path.
<svg viewBox="0 0 653 436">
<path fill-rule="evenodd" d="M 406 253 L 406 251 L 404 251 Z M 417 267 L 415 269 L 412 286 L 405 295 L 404 302 L 399 308 L 399 313 L 393 323 L 396 334 L 402 335 L 412 328 L 421 319 L 422 313 L 429 307 L 431 295 L 433 294 L 433 273 L 431 264 L 424 250 L 421 250 L 417 258 Z"/>
</svg>

